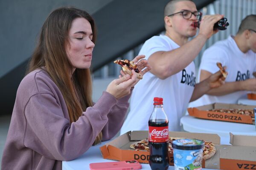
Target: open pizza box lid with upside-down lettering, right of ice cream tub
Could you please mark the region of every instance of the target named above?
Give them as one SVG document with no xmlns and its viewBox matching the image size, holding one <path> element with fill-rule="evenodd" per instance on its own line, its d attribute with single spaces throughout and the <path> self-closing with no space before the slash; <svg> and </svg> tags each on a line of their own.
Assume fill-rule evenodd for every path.
<svg viewBox="0 0 256 170">
<path fill-rule="evenodd" d="M 256 169 L 256 136 L 230 133 L 230 144 L 215 145 L 215 156 L 205 162 L 205 167 L 221 170 Z"/>
</svg>

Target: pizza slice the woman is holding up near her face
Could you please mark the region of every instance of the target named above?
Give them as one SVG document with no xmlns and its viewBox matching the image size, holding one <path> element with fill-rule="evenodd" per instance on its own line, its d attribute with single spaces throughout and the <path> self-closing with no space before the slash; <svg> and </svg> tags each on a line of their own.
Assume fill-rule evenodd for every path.
<svg viewBox="0 0 256 170">
<path fill-rule="evenodd" d="M 131 70 L 133 69 L 136 72 L 137 78 L 142 79 L 143 75 L 140 74 L 140 70 L 138 69 L 138 65 L 130 60 L 116 60 L 114 63 L 122 66 L 122 70 L 129 75 L 132 75 Z"/>
</svg>

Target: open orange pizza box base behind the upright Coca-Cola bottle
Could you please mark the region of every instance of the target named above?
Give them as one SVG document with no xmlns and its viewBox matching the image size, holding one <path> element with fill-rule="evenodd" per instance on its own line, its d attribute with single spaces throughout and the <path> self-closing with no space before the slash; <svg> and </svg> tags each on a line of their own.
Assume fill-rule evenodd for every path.
<svg viewBox="0 0 256 170">
<path fill-rule="evenodd" d="M 169 132 L 172 137 L 197 138 L 205 141 L 211 141 L 214 144 L 220 144 L 220 137 L 217 134 L 207 133 L 187 133 L 187 132 Z M 125 161 L 135 159 L 140 163 L 148 164 L 149 152 L 146 150 L 134 150 L 130 148 L 130 144 L 135 141 L 148 138 L 148 131 L 129 131 L 104 146 L 100 147 L 102 156 L 105 159 L 116 161 Z M 169 153 L 169 164 L 173 164 L 173 154 Z M 205 167 L 203 161 L 203 167 Z"/>
</svg>

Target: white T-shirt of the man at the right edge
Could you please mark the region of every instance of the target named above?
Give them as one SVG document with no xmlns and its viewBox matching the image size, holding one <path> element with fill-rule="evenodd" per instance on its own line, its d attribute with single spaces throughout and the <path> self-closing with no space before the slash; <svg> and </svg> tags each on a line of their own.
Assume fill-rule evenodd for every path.
<svg viewBox="0 0 256 170">
<path fill-rule="evenodd" d="M 252 74 L 256 71 L 256 53 L 252 50 L 247 53 L 241 52 L 232 36 L 226 40 L 218 41 L 205 50 L 199 67 L 198 78 L 200 78 L 202 69 L 212 74 L 217 72 L 219 68 L 216 66 L 216 62 L 220 62 L 222 66 L 227 66 L 226 82 L 245 81 L 254 78 Z M 197 107 L 215 102 L 237 104 L 239 98 L 246 98 L 246 94 L 246 91 L 237 91 L 221 96 L 203 95 L 189 106 Z"/>
</svg>

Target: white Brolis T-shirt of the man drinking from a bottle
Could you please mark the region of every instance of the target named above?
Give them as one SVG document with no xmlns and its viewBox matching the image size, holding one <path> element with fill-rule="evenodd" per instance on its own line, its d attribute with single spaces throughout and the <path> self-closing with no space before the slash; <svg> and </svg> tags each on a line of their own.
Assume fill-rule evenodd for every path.
<svg viewBox="0 0 256 170">
<path fill-rule="evenodd" d="M 154 36 L 144 43 L 139 55 L 145 55 L 145 59 L 148 59 L 155 52 L 171 51 L 179 47 L 165 35 Z M 180 118 L 186 111 L 194 86 L 194 62 L 165 80 L 147 72 L 143 76 L 143 80 L 134 87 L 131 95 L 130 112 L 121 128 L 121 134 L 129 130 L 148 130 L 148 119 L 154 108 L 154 97 L 163 98 L 163 109 L 169 120 L 169 130 L 179 131 Z"/>
</svg>

